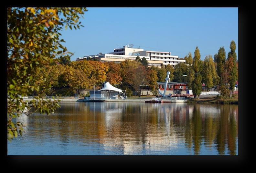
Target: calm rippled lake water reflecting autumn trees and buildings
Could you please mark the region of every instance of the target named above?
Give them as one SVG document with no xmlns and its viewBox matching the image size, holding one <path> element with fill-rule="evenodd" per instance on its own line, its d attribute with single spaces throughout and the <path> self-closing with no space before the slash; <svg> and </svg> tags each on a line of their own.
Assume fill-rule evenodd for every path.
<svg viewBox="0 0 256 173">
<path fill-rule="evenodd" d="M 238 155 L 238 105 L 62 102 L 22 116 L 8 155 Z"/>
</svg>

